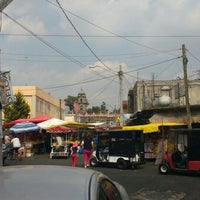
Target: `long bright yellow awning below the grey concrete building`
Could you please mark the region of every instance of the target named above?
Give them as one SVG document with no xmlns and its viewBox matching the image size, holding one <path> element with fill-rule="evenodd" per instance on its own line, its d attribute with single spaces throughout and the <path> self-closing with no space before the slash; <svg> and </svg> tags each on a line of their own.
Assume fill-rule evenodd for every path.
<svg viewBox="0 0 200 200">
<path fill-rule="evenodd" d="M 143 133 L 158 132 L 160 126 L 183 126 L 183 123 L 158 123 L 158 124 L 145 124 L 137 126 L 123 126 L 122 130 L 141 130 Z"/>
</svg>

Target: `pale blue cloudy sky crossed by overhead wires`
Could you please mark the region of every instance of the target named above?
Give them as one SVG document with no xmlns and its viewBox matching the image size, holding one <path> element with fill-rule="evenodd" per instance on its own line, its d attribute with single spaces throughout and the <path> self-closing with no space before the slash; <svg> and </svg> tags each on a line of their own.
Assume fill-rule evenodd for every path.
<svg viewBox="0 0 200 200">
<path fill-rule="evenodd" d="M 119 108 L 137 80 L 200 77 L 196 0 L 13 0 L 2 13 L 0 67 L 12 85 L 57 99 L 83 90 L 88 107 Z"/>
</svg>

